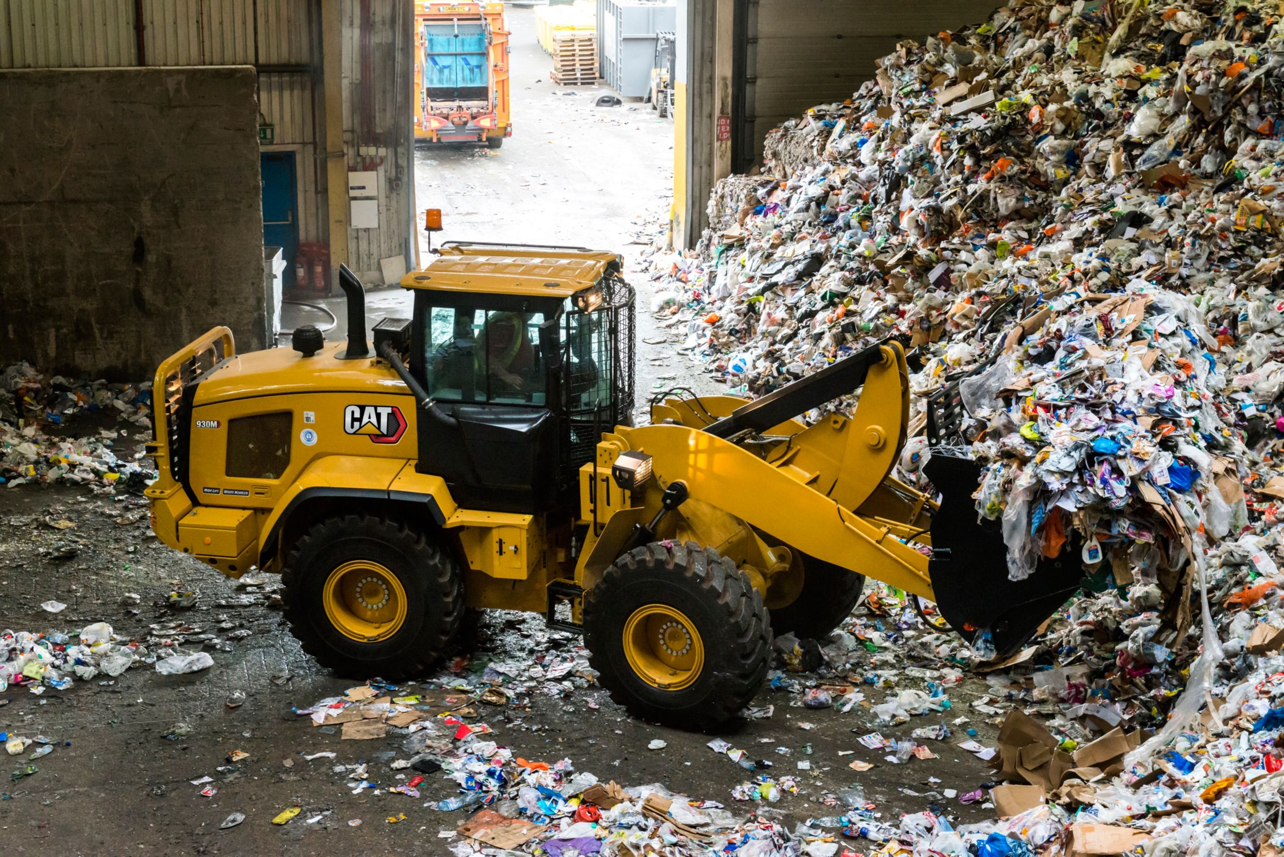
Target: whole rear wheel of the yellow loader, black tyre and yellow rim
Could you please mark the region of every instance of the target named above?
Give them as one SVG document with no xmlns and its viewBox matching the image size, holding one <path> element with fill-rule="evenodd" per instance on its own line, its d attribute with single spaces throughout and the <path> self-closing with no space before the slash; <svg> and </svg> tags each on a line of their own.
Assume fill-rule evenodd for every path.
<svg viewBox="0 0 1284 857">
<path fill-rule="evenodd" d="M 303 650 L 345 677 L 422 675 L 464 617 L 455 559 L 422 532 L 379 517 L 316 523 L 290 550 L 281 582 Z"/>
</svg>

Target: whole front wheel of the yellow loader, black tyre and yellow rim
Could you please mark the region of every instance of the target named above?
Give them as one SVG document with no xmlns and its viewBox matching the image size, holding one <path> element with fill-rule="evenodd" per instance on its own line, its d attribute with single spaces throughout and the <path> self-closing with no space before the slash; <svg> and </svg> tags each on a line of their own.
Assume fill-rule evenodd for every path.
<svg viewBox="0 0 1284 857">
<path fill-rule="evenodd" d="M 772 653 L 761 595 L 718 552 L 655 541 L 584 594 L 589 663 L 611 699 L 655 722 L 706 729 L 758 693 Z"/>
</svg>

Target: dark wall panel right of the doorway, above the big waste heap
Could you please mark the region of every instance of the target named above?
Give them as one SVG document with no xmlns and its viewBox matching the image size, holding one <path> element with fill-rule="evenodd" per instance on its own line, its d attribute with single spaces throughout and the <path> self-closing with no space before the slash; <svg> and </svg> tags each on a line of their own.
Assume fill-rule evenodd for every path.
<svg viewBox="0 0 1284 857">
<path fill-rule="evenodd" d="M 980 23 L 999 0 L 750 0 L 746 123 L 763 139 L 809 106 L 841 101 L 903 38 Z"/>
</svg>

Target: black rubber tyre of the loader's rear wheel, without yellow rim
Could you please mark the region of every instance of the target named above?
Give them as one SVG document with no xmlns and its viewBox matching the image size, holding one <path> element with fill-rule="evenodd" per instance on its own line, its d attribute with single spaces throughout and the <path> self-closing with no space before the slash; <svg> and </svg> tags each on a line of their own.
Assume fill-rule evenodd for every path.
<svg viewBox="0 0 1284 857">
<path fill-rule="evenodd" d="M 406 593 L 401 629 L 375 643 L 342 634 L 327 618 L 326 581 L 352 561 L 376 562 Z M 352 679 L 401 680 L 422 675 L 449 647 L 464 618 L 458 564 L 433 539 L 404 523 L 347 514 L 313 525 L 281 571 L 290 631 L 321 666 Z"/>
</svg>

